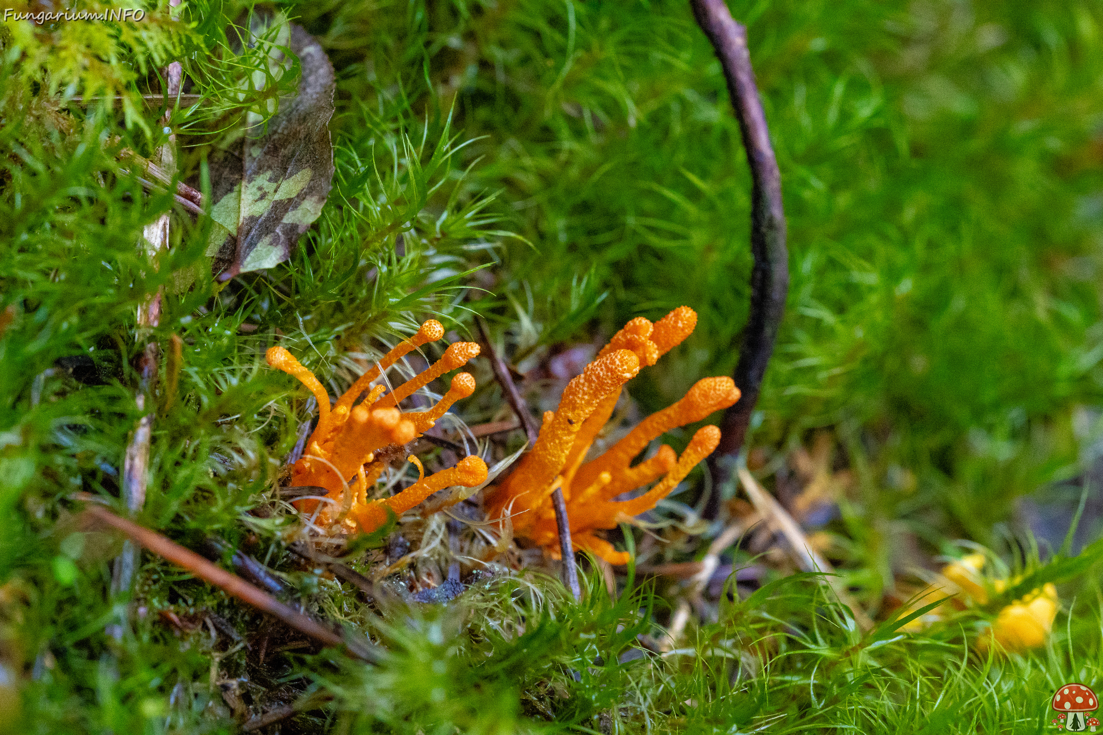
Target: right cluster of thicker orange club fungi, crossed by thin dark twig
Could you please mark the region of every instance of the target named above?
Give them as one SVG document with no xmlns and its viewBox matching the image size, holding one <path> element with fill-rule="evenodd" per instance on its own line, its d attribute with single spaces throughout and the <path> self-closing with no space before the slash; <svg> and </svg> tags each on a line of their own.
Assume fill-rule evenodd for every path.
<svg viewBox="0 0 1103 735">
<path fill-rule="evenodd" d="M 654 456 L 630 466 L 647 444 L 663 433 L 700 421 L 739 400 L 731 378 L 699 380 L 685 398 L 636 425 L 601 456 L 583 462 L 590 445 L 609 421 L 625 382 L 641 367 L 654 365 L 693 332 L 697 314 L 679 306 L 652 324 L 638 317 L 613 335 L 582 375 L 563 392 L 556 411 L 544 414 L 539 436 L 517 468 L 486 496 L 488 517 L 510 517 L 514 534 L 531 539 L 553 556 L 558 555 L 552 494 L 561 488 L 570 519 L 571 541 L 613 564 L 628 562 L 597 536 L 601 529 L 651 510 L 708 456 L 720 441 L 720 430 L 704 426 L 676 457 L 665 444 Z M 662 479 L 660 479 L 662 478 Z M 649 491 L 631 500 L 617 501 L 623 493 L 658 479 Z"/>
</svg>

